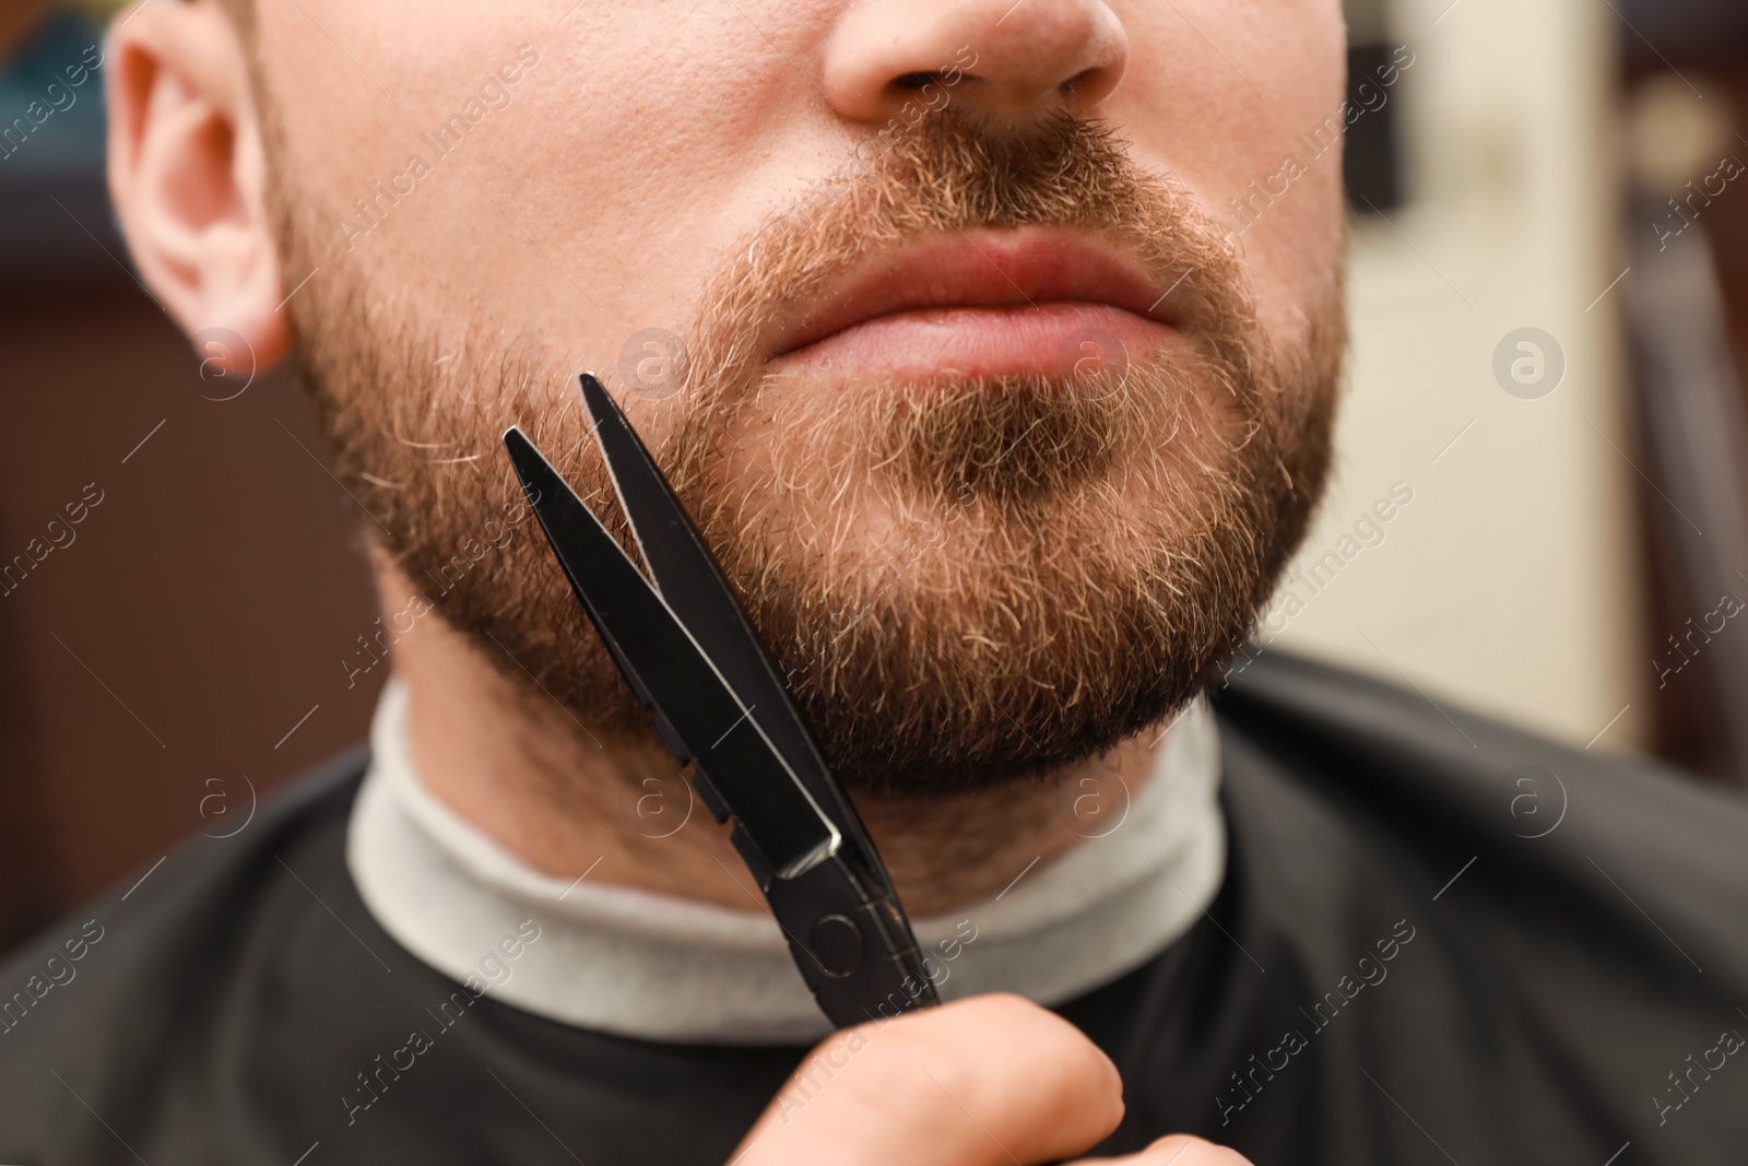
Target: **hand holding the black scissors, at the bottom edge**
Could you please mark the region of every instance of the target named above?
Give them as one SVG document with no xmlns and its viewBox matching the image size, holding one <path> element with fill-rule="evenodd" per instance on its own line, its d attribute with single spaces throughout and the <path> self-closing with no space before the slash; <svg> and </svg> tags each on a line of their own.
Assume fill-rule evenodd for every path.
<svg viewBox="0 0 1748 1166">
<path fill-rule="evenodd" d="M 993 995 L 846 1028 L 808 1054 L 732 1166 L 1033 1166 L 1122 1121 L 1117 1066 L 1080 1030 Z M 1092 1161 L 1092 1159 L 1086 1159 Z M 1117 1166 L 1248 1166 L 1173 1135 Z"/>
</svg>

